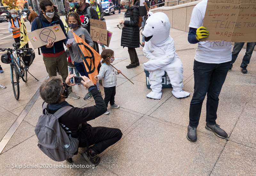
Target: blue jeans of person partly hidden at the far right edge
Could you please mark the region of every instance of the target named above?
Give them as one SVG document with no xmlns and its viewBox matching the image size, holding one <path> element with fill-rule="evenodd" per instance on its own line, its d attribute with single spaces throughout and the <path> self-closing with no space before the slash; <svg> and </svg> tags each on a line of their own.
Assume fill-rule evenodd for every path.
<svg viewBox="0 0 256 176">
<path fill-rule="evenodd" d="M 243 58 L 243 61 L 242 61 L 240 67 L 247 67 L 248 66 L 248 64 L 250 63 L 250 59 L 252 57 L 252 52 L 253 52 L 253 49 L 254 49 L 255 45 L 256 45 L 256 42 L 247 43 L 246 52 L 245 52 L 245 55 L 244 55 L 244 58 Z M 241 49 L 243 48 L 243 46 L 244 46 L 244 42 L 235 43 L 233 51 L 232 51 L 232 60 L 230 62 L 230 67 L 231 68 L 233 67 L 233 64 L 235 63 L 236 58 L 237 58 L 239 52 L 241 51 Z"/>
</svg>

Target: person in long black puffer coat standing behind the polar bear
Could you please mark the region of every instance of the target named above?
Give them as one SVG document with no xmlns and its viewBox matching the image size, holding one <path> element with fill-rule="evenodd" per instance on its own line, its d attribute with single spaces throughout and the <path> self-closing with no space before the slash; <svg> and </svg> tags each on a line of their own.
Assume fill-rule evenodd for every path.
<svg viewBox="0 0 256 176">
<path fill-rule="evenodd" d="M 139 9 L 137 6 L 132 5 L 132 0 L 121 0 L 124 8 L 127 11 L 124 14 L 124 20 L 120 23 L 124 24 L 121 38 L 121 46 L 128 47 L 128 53 L 130 55 L 131 64 L 126 68 L 134 68 L 140 65 L 138 55 L 135 48 L 140 47 L 140 32 L 139 32 Z M 129 20 L 125 20 L 130 18 Z"/>
</svg>

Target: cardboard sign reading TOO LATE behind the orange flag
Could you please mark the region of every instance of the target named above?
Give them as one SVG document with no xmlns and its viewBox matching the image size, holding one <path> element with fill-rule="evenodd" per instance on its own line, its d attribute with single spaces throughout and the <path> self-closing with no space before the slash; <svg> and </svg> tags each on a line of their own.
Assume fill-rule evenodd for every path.
<svg viewBox="0 0 256 176">
<path fill-rule="evenodd" d="M 109 46 L 112 32 L 107 30 L 107 25 L 105 21 L 95 20 L 90 18 L 90 36 L 92 40 L 97 42 L 100 40 L 100 43 L 105 46 Z"/>
</svg>

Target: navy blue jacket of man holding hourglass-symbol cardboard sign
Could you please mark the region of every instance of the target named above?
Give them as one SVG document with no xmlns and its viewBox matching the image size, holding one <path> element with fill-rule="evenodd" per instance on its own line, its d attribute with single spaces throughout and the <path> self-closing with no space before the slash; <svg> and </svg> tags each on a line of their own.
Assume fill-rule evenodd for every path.
<svg viewBox="0 0 256 176">
<path fill-rule="evenodd" d="M 54 14 L 54 17 L 52 18 L 52 23 L 47 21 L 47 19 L 43 15 L 42 11 L 40 12 L 39 17 L 41 20 L 42 28 L 59 24 L 63 33 L 66 36 L 66 39 L 60 40 L 58 42 L 54 42 L 54 45 L 51 48 L 46 48 L 45 46 L 41 46 L 40 47 L 41 52 L 42 53 L 59 53 L 59 52 L 63 51 L 64 50 L 63 43 L 66 45 L 66 43 L 68 41 L 68 35 L 65 32 L 65 27 L 64 27 L 62 21 L 60 20 L 60 17 L 57 14 Z M 38 28 L 36 25 L 36 20 L 34 20 L 31 24 L 31 32 L 35 31 L 36 29 L 38 29 Z"/>
</svg>

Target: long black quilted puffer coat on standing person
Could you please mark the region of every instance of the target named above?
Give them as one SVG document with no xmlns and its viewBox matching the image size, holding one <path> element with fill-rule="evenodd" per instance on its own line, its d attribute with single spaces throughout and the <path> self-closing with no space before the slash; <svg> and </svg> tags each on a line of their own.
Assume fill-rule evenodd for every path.
<svg viewBox="0 0 256 176">
<path fill-rule="evenodd" d="M 140 47 L 140 32 L 139 32 L 139 9 L 133 5 L 124 14 L 124 18 L 130 18 L 130 21 L 124 21 L 124 28 L 121 37 L 121 46 L 129 48 Z"/>
</svg>

